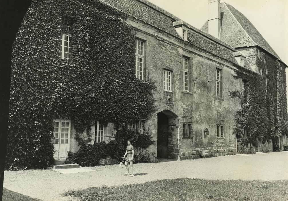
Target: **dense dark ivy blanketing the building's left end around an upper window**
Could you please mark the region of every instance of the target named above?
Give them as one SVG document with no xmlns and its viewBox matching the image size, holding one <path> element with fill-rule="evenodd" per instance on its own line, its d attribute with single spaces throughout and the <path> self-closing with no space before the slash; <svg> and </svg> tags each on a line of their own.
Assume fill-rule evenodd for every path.
<svg viewBox="0 0 288 201">
<path fill-rule="evenodd" d="M 73 21 L 69 61 L 59 57 L 63 17 Z M 149 118 L 155 87 L 135 78 L 134 31 L 126 17 L 101 1 L 32 2 L 12 51 L 7 168 L 54 162 L 53 119 L 71 118 L 80 134 L 95 119 L 117 126 Z"/>
</svg>

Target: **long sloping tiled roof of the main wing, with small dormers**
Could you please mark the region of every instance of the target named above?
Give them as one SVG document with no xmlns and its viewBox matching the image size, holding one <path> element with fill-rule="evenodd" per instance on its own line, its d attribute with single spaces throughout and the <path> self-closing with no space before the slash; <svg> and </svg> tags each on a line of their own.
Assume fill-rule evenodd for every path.
<svg viewBox="0 0 288 201">
<path fill-rule="evenodd" d="M 173 27 L 174 21 L 181 19 L 170 14 L 169 12 L 159 8 L 153 3 L 146 0 L 102 0 L 109 3 L 111 6 L 127 13 L 132 18 L 138 19 L 152 25 L 166 33 L 169 33 L 177 38 L 181 38 Z M 189 30 L 187 31 L 188 42 L 192 45 L 206 50 L 214 55 L 217 55 L 230 62 L 238 64 L 233 56 L 236 50 L 225 42 L 211 36 L 204 31 L 183 22 Z"/>
</svg>

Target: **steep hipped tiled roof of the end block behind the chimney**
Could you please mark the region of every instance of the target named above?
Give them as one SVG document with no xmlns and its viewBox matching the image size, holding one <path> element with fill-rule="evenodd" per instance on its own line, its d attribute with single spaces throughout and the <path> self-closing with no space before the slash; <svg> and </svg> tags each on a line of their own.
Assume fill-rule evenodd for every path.
<svg viewBox="0 0 288 201">
<path fill-rule="evenodd" d="M 208 21 L 203 25 L 201 30 L 208 33 Z M 234 48 L 258 45 L 277 59 L 280 59 L 254 25 L 241 12 L 228 3 L 221 3 L 220 40 L 230 44 Z"/>
</svg>

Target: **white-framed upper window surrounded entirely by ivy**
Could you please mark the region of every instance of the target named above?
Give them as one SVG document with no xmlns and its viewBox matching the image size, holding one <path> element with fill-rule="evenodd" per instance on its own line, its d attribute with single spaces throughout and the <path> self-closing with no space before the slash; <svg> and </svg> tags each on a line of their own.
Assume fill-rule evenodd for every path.
<svg viewBox="0 0 288 201">
<path fill-rule="evenodd" d="M 59 57 L 63 60 L 69 61 L 71 58 L 71 21 L 68 19 L 64 19 L 64 27 L 67 31 L 66 33 L 62 33 L 60 38 L 60 54 Z"/>
</svg>

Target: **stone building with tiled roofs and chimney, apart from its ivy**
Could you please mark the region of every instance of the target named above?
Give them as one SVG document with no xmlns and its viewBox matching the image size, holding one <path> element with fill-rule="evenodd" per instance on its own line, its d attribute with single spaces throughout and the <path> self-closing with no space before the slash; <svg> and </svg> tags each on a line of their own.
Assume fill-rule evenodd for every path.
<svg viewBox="0 0 288 201">
<path fill-rule="evenodd" d="M 140 132 L 149 129 L 152 133 L 155 144 L 149 150 L 155 156 L 197 159 L 239 151 L 233 129 L 241 100 L 230 96 L 231 91 L 245 90 L 242 80 L 232 76 L 239 66 L 263 74 L 270 82 L 266 58 L 274 62 L 281 77 L 276 95 L 284 98 L 287 106 L 287 66 L 250 21 L 231 5 L 207 1 L 209 19 L 199 30 L 149 1 L 104 1 L 130 16 L 124 21 L 136 30 L 135 76 L 152 79 L 157 85 L 157 112 L 151 119 L 133 124 Z M 67 157 L 67 150 L 76 152 L 78 146 L 73 120 L 56 122 L 67 122 L 69 134 L 69 144 L 56 152 L 55 159 L 60 160 Z M 113 139 L 113 128 L 113 123 L 103 125 L 96 120 L 91 142 Z M 287 139 L 287 135 L 281 138 L 282 148 Z M 273 151 L 271 140 L 257 144 L 249 149 Z"/>
</svg>

